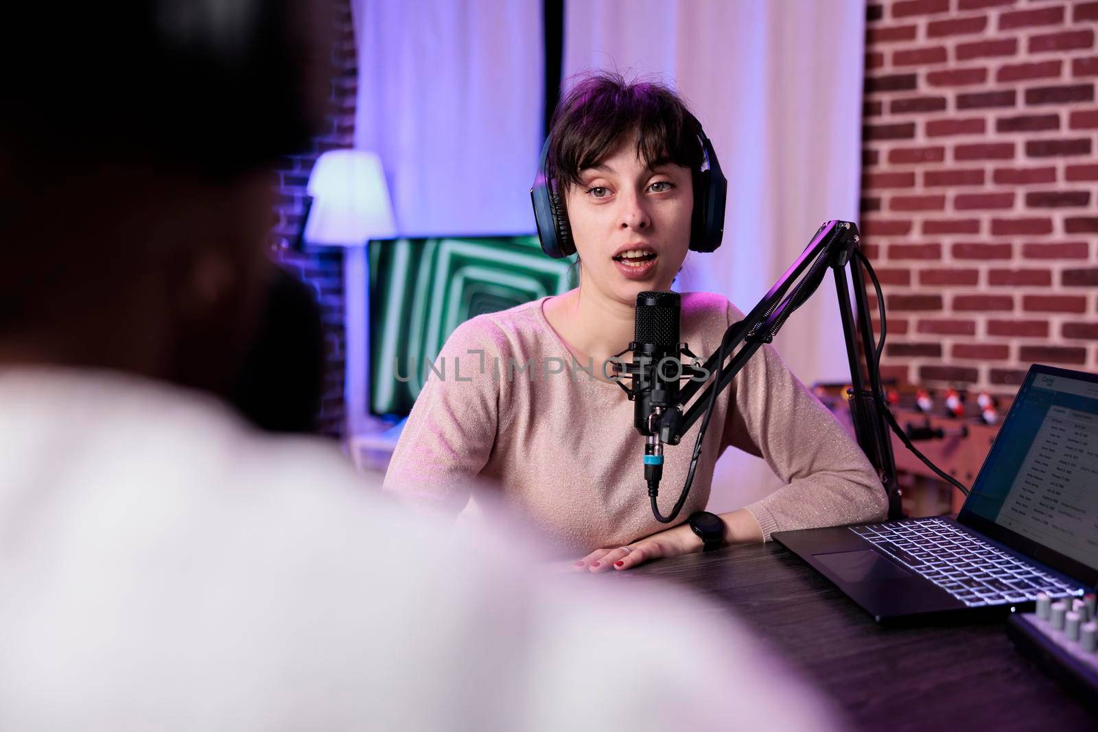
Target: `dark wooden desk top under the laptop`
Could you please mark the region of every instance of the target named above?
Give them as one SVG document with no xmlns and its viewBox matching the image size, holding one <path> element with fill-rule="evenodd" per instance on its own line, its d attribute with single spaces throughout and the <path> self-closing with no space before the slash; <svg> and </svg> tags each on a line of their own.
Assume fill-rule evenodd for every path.
<svg viewBox="0 0 1098 732">
<path fill-rule="evenodd" d="M 1007 640 L 1005 623 L 885 629 L 776 543 L 660 560 L 591 582 L 668 579 L 736 615 L 856 730 L 1094 730 Z"/>
</svg>

